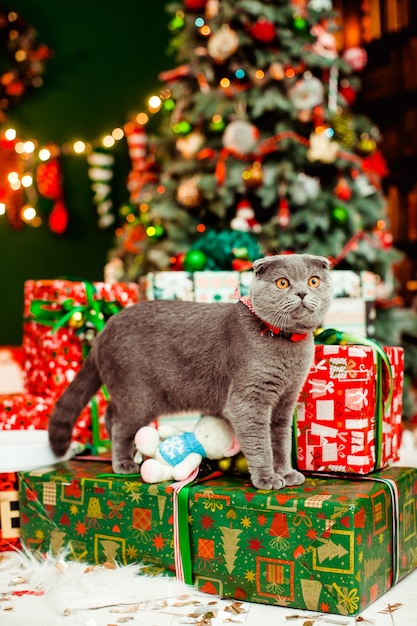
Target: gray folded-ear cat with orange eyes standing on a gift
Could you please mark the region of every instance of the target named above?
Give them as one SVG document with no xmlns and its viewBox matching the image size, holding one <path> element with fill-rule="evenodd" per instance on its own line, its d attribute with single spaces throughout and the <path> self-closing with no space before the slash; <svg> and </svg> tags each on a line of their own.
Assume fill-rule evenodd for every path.
<svg viewBox="0 0 417 626">
<path fill-rule="evenodd" d="M 138 471 L 136 431 L 160 415 L 228 420 L 258 489 L 298 485 L 291 467 L 294 405 L 314 354 L 313 330 L 332 300 L 329 262 L 311 255 L 255 261 L 238 303 L 141 302 L 113 316 L 55 405 L 49 439 L 62 456 L 76 418 L 105 384 L 113 471 Z"/>
</svg>

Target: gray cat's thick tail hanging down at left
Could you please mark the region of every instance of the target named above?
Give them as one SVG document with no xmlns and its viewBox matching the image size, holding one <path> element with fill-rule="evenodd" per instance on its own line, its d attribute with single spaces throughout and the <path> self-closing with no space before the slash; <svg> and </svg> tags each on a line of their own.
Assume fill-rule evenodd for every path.
<svg viewBox="0 0 417 626">
<path fill-rule="evenodd" d="M 49 443 L 56 456 L 61 457 L 68 450 L 77 417 L 101 384 L 93 349 L 74 380 L 56 402 L 49 418 Z"/>
</svg>

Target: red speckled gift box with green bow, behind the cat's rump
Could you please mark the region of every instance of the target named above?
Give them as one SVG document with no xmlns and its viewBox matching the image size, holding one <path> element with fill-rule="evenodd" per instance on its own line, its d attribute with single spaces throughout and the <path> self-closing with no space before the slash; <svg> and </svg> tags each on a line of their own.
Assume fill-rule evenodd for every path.
<svg viewBox="0 0 417 626">
<path fill-rule="evenodd" d="M 28 391 L 61 395 L 81 367 L 88 333 L 94 335 L 106 318 L 136 302 L 136 283 L 26 281 L 23 349 Z"/>
</svg>

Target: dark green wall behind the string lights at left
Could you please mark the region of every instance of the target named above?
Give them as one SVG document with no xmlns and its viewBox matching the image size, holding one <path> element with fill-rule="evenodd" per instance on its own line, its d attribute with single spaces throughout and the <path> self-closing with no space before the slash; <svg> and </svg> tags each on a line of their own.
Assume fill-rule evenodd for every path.
<svg viewBox="0 0 417 626">
<path fill-rule="evenodd" d="M 44 84 L 8 113 L 24 139 L 62 145 L 94 140 L 145 108 L 166 55 L 169 16 L 165 0 L 11 0 L 30 22 L 37 41 L 54 51 Z M 9 124 L 8 124 L 9 125 Z M 127 200 L 129 158 L 124 142 L 116 159 L 114 204 Z M 85 157 L 62 159 L 70 222 L 67 232 L 40 228 L 13 231 L 0 217 L 0 345 L 20 344 L 25 280 L 78 276 L 102 280 L 113 229 L 97 227 Z"/>
</svg>

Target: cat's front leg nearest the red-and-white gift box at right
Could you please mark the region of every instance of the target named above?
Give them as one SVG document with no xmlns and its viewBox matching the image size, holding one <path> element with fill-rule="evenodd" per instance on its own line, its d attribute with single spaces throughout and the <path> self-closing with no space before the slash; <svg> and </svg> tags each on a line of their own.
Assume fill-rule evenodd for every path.
<svg viewBox="0 0 417 626">
<path fill-rule="evenodd" d="M 302 485 L 305 476 L 292 467 L 291 449 L 293 445 L 293 412 L 298 394 L 288 394 L 272 411 L 271 443 L 274 470 L 281 475 L 287 487 Z"/>
</svg>

